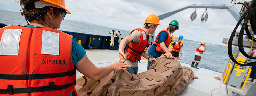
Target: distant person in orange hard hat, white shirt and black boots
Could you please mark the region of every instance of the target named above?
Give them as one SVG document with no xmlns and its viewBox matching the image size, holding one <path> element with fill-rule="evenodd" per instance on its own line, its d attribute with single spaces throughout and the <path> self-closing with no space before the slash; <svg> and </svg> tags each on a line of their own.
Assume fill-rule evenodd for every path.
<svg viewBox="0 0 256 96">
<path fill-rule="evenodd" d="M 206 50 L 206 46 L 204 46 L 204 45 L 205 45 L 205 42 L 203 41 L 203 42 L 201 42 L 201 45 L 196 47 L 195 59 L 193 60 L 191 67 L 194 67 L 194 63 L 197 61 L 196 65 L 194 67 L 194 68 L 197 68 L 198 63 L 201 60 L 201 54 L 203 54 L 203 52 L 205 52 L 205 50 Z M 197 68 L 197 69 L 199 69 L 199 68 Z"/>
</svg>

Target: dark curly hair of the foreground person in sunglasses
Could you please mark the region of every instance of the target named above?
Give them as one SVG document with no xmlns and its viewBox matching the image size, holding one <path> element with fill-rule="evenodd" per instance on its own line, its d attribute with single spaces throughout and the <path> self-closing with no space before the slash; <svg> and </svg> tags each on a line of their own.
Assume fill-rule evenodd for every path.
<svg viewBox="0 0 256 96">
<path fill-rule="evenodd" d="M 18 1 L 19 0 L 17 0 L 16 2 L 18 2 Z M 20 1 L 23 4 L 28 5 L 28 4 L 35 3 L 36 1 L 39 1 L 39 0 L 20 0 Z M 44 16 L 46 15 L 46 12 L 50 11 L 50 8 L 53 8 L 52 13 L 54 14 L 54 16 L 58 16 L 58 14 L 60 14 L 60 11 L 58 11 L 58 10 L 61 10 L 61 11 L 64 10 L 64 9 L 56 8 L 56 7 L 52 7 L 52 6 L 45 6 L 43 8 L 21 8 L 22 10 L 20 10 L 20 11 L 22 11 L 21 15 L 25 16 L 26 20 L 39 14 L 38 16 L 36 16 L 28 21 L 31 22 L 32 20 L 36 20 L 38 23 L 43 24 L 43 22 L 45 21 Z M 58 10 L 56 10 L 56 9 L 58 9 Z"/>
</svg>

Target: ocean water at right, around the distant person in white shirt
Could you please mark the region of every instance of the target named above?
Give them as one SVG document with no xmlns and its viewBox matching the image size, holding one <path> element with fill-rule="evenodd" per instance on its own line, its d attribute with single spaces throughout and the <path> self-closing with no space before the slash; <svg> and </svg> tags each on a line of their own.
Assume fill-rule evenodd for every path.
<svg viewBox="0 0 256 96">
<path fill-rule="evenodd" d="M 191 64 L 195 58 L 194 53 L 199 43 L 193 41 L 183 41 L 182 56 L 180 62 Z M 217 72 L 223 72 L 227 66 L 229 57 L 226 46 L 213 46 L 207 45 L 206 51 L 201 54 L 201 61 L 198 66 L 206 69 L 210 69 Z M 200 69 L 200 68 L 199 68 Z"/>
</svg>

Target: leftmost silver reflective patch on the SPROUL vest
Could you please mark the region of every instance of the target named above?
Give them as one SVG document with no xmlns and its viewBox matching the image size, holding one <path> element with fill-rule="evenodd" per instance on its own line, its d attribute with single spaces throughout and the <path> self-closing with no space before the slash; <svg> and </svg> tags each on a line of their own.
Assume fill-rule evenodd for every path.
<svg viewBox="0 0 256 96">
<path fill-rule="evenodd" d="M 22 29 L 5 29 L 0 41 L 0 55 L 19 55 Z"/>
</svg>

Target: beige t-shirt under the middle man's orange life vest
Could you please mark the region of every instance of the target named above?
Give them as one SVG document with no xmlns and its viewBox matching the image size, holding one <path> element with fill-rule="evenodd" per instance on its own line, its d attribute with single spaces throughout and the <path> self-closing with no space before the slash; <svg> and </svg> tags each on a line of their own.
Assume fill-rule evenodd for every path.
<svg viewBox="0 0 256 96">
<path fill-rule="evenodd" d="M 131 41 L 131 43 L 137 43 L 140 41 L 140 31 L 139 30 L 134 30 L 130 35 L 133 37 L 133 40 Z M 131 60 L 126 59 L 126 61 L 124 63 L 127 63 L 127 67 L 132 67 L 135 68 L 138 66 L 138 59 L 136 60 L 136 62 L 133 62 Z"/>
</svg>

